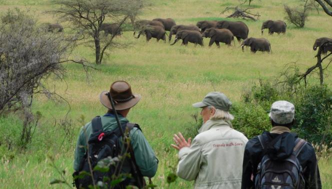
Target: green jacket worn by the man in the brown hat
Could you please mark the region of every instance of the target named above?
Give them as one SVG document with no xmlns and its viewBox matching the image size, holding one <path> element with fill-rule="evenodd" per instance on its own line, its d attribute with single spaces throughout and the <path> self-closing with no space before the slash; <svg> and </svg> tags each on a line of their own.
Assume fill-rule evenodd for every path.
<svg viewBox="0 0 332 189">
<path fill-rule="evenodd" d="M 119 121 L 121 124 L 128 122 L 128 119 L 125 117 L 118 115 Z M 117 123 L 115 117 L 112 115 L 103 115 L 101 117 L 101 124 L 104 131 L 113 130 L 117 127 Z M 85 154 L 86 149 L 86 135 L 84 134 L 84 130 L 87 136 L 90 136 L 92 126 L 91 121 L 88 122 L 85 126 L 83 126 L 78 135 L 76 148 L 75 148 L 75 157 L 73 168 L 74 170 L 78 170 L 80 159 Z M 136 164 L 142 173 L 143 176 L 152 177 L 155 175 L 158 167 L 158 159 L 156 158 L 151 146 L 147 142 L 143 133 L 136 127 L 133 127 L 129 132 L 130 143 L 133 149 L 133 153 L 135 156 Z M 121 140 L 122 137 L 119 139 Z M 129 172 L 130 166 L 128 164 L 124 165 L 122 171 Z"/>
</svg>

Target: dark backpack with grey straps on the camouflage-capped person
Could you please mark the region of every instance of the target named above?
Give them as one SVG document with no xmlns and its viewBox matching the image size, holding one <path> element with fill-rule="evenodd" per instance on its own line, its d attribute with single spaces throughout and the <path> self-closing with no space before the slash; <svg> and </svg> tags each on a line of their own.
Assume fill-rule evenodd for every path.
<svg viewBox="0 0 332 189">
<path fill-rule="evenodd" d="M 266 148 L 263 136 L 258 135 L 259 142 Z M 296 138 L 292 154 L 283 160 L 273 160 L 265 154 L 257 167 L 255 176 L 256 189 L 300 189 L 304 188 L 304 178 L 297 155 L 306 141 Z"/>
</svg>

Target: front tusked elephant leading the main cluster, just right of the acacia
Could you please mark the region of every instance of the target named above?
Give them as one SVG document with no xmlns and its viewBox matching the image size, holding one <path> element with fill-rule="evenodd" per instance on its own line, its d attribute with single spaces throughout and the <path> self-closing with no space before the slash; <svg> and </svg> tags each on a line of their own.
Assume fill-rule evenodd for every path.
<svg viewBox="0 0 332 189">
<path fill-rule="evenodd" d="M 163 27 L 160 27 L 159 25 L 146 25 L 143 26 L 143 28 L 138 32 L 137 37 L 139 38 L 140 34 L 146 35 L 146 42 L 148 42 L 152 37 L 157 39 L 157 42 L 162 39 L 164 42 L 166 42 L 166 31 Z"/>
</svg>

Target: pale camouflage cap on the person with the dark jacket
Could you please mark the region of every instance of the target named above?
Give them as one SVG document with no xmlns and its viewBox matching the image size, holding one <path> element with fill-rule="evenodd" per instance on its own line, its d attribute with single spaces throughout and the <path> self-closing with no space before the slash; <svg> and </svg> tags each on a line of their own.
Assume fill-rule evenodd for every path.
<svg viewBox="0 0 332 189">
<path fill-rule="evenodd" d="M 285 100 L 279 100 L 272 103 L 268 116 L 275 123 L 287 124 L 293 121 L 294 114 L 294 104 Z"/>
</svg>

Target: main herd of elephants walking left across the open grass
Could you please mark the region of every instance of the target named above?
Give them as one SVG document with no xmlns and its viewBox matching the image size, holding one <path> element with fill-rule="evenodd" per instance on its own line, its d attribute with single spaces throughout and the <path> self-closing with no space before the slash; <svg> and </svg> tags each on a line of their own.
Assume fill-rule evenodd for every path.
<svg viewBox="0 0 332 189">
<path fill-rule="evenodd" d="M 263 29 L 268 28 L 268 33 L 284 33 L 286 31 L 286 23 L 282 20 L 267 20 L 263 22 L 261 26 L 261 34 Z M 151 38 L 156 38 L 166 41 L 166 31 L 169 31 L 168 42 L 171 40 L 172 35 L 175 34 L 175 40 L 172 44 L 175 44 L 178 40 L 182 39 L 182 44 L 187 45 L 188 42 L 199 44 L 203 46 L 203 37 L 210 38 L 208 46 L 213 43 L 220 47 L 220 42 L 227 45 L 231 45 L 231 41 L 234 41 L 236 37 L 237 41 L 241 43 L 242 51 L 243 46 L 250 46 L 252 52 L 256 51 L 271 51 L 271 45 L 265 38 L 248 38 L 249 28 L 242 21 L 228 21 L 228 20 L 202 20 L 198 21 L 196 25 L 176 25 L 172 18 L 155 18 L 153 20 L 138 20 L 134 24 L 134 30 L 138 29 L 139 38 L 141 34 L 146 35 L 146 41 Z M 135 34 L 135 31 L 134 31 Z M 235 45 L 235 42 L 234 42 Z"/>
</svg>

